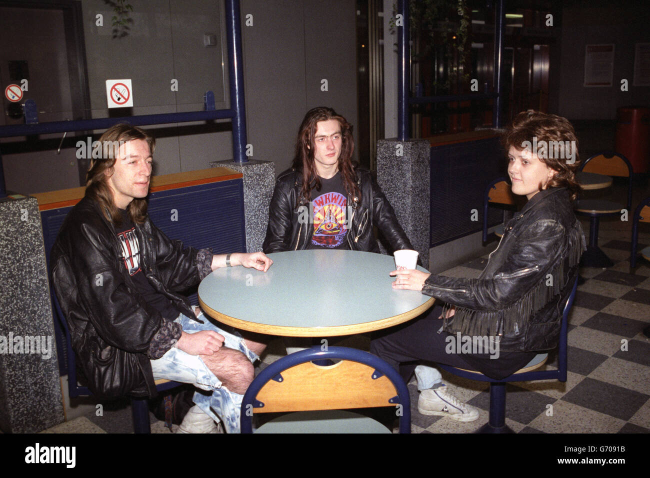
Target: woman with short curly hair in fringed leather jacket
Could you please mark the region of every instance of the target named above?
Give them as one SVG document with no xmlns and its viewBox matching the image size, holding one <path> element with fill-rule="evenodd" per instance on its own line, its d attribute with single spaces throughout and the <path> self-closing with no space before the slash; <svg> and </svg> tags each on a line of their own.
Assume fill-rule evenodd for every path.
<svg viewBox="0 0 650 478">
<path fill-rule="evenodd" d="M 571 204 L 580 192 L 575 131 L 565 118 L 526 111 L 508 126 L 503 144 L 512 192 L 528 202 L 505 225 L 478 278 L 391 272 L 397 277 L 393 288 L 421 291 L 446 304 L 372 341 L 370 351 L 396 367 L 427 360 L 500 379 L 558 344 L 562 309 L 585 245 Z M 489 343 L 489 352 L 448 347 L 459 334 Z M 421 413 L 458 421 L 478 418 L 478 410 L 450 398 L 435 369 L 419 365 L 415 373 Z"/>
</svg>

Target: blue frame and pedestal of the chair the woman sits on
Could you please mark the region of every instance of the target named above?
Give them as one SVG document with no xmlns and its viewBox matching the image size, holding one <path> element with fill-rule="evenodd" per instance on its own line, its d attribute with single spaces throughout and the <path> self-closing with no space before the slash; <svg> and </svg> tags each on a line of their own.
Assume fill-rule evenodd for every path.
<svg viewBox="0 0 650 478">
<path fill-rule="evenodd" d="M 522 373 L 513 373 L 510 377 L 496 380 L 483 375 L 478 371 L 468 371 L 452 367 L 450 365 L 437 364 L 442 369 L 458 375 L 458 377 L 470 378 L 480 382 L 489 382 L 489 421 L 478 429 L 478 433 L 513 433 L 512 429 L 506 425 L 506 384 L 508 382 L 526 382 L 528 380 L 547 380 L 555 378 L 560 382 L 567 381 L 567 330 L 568 317 L 575 291 L 578 287 L 578 280 L 575 279 L 573 289 L 564 306 L 562 313 L 562 326 L 560 328 L 560 341 L 558 343 L 558 369 L 557 370 L 532 370 Z"/>
</svg>

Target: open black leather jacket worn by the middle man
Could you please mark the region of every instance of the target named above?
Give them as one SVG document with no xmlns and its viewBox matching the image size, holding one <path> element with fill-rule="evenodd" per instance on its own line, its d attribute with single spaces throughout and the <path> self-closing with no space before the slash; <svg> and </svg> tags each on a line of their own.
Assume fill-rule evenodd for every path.
<svg viewBox="0 0 650 478">
<path fill-rule="evenodd" d="M 348 206 L 352 206 L 346 235 L 350 249 L 379 253 L 379 246 L 372 230 L 374 226 L 379 228 L 393 250 L 413 249 L 406 233 L 397 222 L 393 206 L 383 195 L 382 189 L 374 181 L 370 172 L 357 168 L 355 173 L 361 191 L 361 200 L 347 198 Z M 301 224 L 298 220 L 299 208 L 308 206 L 309 202 L 302 199 L 296 207 L 301 189 L 302 174 L 293 168 L 278 176 L 276 189 L 268 208 L 268 228 L 266 228 L 263 245 L 266 254 L 302 250 L 309 246 L 313 235 L 313 224 Z"/>
</svg>

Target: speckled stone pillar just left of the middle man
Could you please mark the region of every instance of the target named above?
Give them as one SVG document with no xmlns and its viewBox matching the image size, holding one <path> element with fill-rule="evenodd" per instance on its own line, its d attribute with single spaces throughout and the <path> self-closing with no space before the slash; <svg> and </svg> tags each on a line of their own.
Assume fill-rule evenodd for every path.
<svg viewBox="0 0 650 478">
<path fill-rule="evenodd" d="M 244 218 L 246 220 L 246 251 L 262 250 L 268 224 L 268 205 L 276 186 L 276 166 L 272 161 L 250 159 L 248 163 L 231 160 L 213 161 L 211 168 L 226 166 L 244 175 Z"/>
</svg>

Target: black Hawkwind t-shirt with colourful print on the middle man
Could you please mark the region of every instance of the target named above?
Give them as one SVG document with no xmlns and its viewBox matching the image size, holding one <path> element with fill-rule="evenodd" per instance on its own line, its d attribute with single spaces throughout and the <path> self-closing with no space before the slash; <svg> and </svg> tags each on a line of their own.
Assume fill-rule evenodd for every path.
<svg viewBox="0 0 650 478">
<path fill-rule="evenodd" d="M 347 195 L 341 173 L 330 179 L 320 178 L 320 191 L 312 191 L 313 235 L 309 249 L 348 249 L 345 239 Z"/>
</svg>

